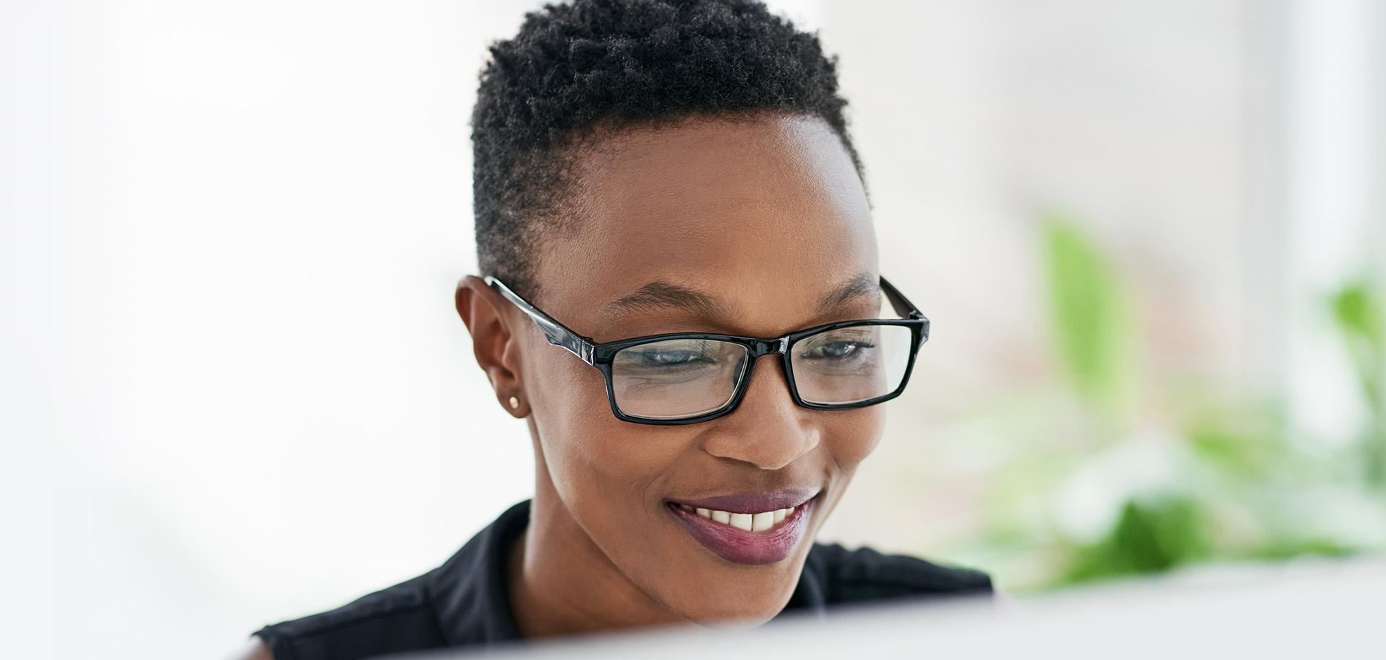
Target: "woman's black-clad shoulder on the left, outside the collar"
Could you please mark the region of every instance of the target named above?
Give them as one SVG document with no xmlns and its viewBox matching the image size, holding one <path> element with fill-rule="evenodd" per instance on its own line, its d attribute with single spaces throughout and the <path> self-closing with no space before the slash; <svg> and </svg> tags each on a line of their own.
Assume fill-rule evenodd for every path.
<svg viewBox="0 0 1386 660">
<path fill-rule="evenodd" d="M 419 575 L 327 611 L 266 625 L 255 631 L 266 653 L 244 660 L 370 657 L 442 646 L 428 577 Z"/>
</svg>

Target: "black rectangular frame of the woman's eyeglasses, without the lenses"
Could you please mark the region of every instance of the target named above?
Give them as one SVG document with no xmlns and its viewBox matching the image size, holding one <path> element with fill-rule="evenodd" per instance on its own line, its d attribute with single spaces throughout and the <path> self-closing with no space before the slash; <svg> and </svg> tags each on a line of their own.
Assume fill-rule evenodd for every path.
<svg viewBox="0 0 1386 660">
<path fill-rule="evenodd" d="M 602 372 L 602 377 L 606 380 L 607 402 L 611 406 L 611 413 L 622 422 L 636 424 L 697 424 L 730 415 L 742 403 L 742 399 L 746 398 L 746 391 L 750 390 L 751 374 L 755 372 L 755 362 L 762 355 L 780 356 L 780 365 L 784 369 L 784 381 L 789 385 L 790 398 L 801 408 L 812 410 L 851 410 L 857 408 L 873 406 L 900 397 L 901 392 L 905 391 L 905 385 L 909 383 L 909 374 L 915 370 L 915 359 L 919 356 L 919 349 L 926 341 L 929 341 L 929 319 L 919 311 L 919 308 L 915 306 L 913 302 L 909 302 L 909 298 L 905 298 L 898 288 L 886 280 L 884 276 L 880 277 L 880 288 L 890 301 L 890 305 L 895 309 L 895 313 L 901 316 L 900 319 L 837 320 L 771 338 L 721 333 L 661 333 L 604 342 L 593 341 L 590 337 L 578 334 L 575 330 L 564 326 L 557 319 L 527 301 L 523 295 L 514 293 L 498 277 L 488 275 L 482 277 L 482 280 L 486 286 L 499 291 L 502 297 L 509 299 L 513 305 L 520 308 L 521 312 L 529 316 L 534 323 L 539 326 L 539 330 L 543 333 L 549 344 L 567 349 L 572 355 L 577 355 L 582 362 Z M 793 358 L 790 356 L 789 348 L 805 337 L 850 326 L 902 326 L 909 329 L 909 362 L 905 365 L 905 373 L 900 377 L 900 385 L 880 397 L 845 403 L 815 403 L 805 401 L 798 394 L 798 385 L 794 381 Z M 732 392 L 732 398 L 715 410 L 692 417 L 658 419 L 626 415 L 622 412 L 621 406 L 615 402 L 615 385 L 613 384 L 611 377 L 611 363 L 615 359 L 615 355 L 625 348 L 665 340 L 717 340 L 744 347 L 747 349 L 746 372 L 740 376 L 740 379 L 737 379 L 736 390 Z"/>
</svg>

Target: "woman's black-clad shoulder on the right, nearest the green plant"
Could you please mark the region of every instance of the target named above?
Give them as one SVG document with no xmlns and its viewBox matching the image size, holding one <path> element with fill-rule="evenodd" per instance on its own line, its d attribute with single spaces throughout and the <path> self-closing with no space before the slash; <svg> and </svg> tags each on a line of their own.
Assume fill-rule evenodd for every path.
<svg viewBox="0 0 1386 660">
<path fill-rule="evenodd" d="M 991 577 L 974 568 L 937 564 L 873 548 L 814 544 L 804 564 L 822 584 L 827 603 L 900 596 L 992 593 Z"/>
</svg>

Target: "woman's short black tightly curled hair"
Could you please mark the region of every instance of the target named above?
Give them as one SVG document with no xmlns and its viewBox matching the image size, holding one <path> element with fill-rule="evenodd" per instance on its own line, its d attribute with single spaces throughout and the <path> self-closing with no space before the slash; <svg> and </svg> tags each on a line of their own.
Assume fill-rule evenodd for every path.
<svg viewBox="0 0 1386 660">
<path fill-rule="evenodd" d="M 539 237 L 574 227 L 564 208 L 572 164 L 599 128 L 818 116 L 865 190 L 837 55 L 757 0 L 545 4 L 489 50 L 471 115 L 477 265 L 531 299 Z"/>
</svg>

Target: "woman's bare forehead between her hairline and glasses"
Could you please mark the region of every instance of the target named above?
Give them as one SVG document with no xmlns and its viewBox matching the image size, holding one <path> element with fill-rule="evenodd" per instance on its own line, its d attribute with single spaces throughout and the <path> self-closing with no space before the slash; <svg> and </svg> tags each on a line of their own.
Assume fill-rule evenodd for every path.
<svg viewBox="0 0 1386 660">
<path fill-rule="evenodd" d="M 678 330 L 776 334 L 818 320 L 818 302 L 843 281 L 876 273 L 861 180 L 822 119 L 625 129 L 574 168 L 575 229 L 545 238 L 536 275 L 545 309 L 599 341 Z M 726 318 L 658 306 L 607 313 L 651 281 L 712 294 Z"/>
</svg>

